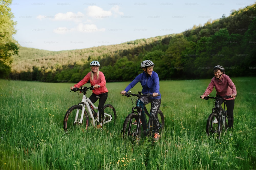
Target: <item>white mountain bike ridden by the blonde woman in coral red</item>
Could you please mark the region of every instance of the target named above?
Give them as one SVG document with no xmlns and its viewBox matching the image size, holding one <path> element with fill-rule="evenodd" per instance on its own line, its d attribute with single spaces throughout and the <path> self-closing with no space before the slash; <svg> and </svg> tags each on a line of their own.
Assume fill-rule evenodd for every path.
<svg viewBox="0 0 256 170">
<path fill-rule="evenodd" d="M 76 126 L 79 126 L 82 124 L 84 128 L 87 129 L 90 125 L 90 122 L 93 125 L 93 127 L 97 126 L 97 122 L 99 122 L 99 111 L 97 113 L 95 112 L 95 110 L 98 110 L 98 107 L 94 106 L 91 100 L 86 97 L 86 92 L 88 90 L 95 90 L 95 89 L 93 86 L 91 86 L 88 88 L 87 87 L 73 88 L 73 90 L 71 90 L 74 92 L 78 91 L 79 93 L 83 93 L 83 98 L 81 103 L 79 103 L 78 105 L 74 105 L 68 109 L 63 121 L 64 131 L 72 130 Z M 79 93 L 78 93 L 78 98 L 80 100 Z M 115 108 L 111 104 L 106 104 L 104 105 L 103 109 L 104 109 L 103 124 L 109 123 L 111 121 L 115 124 L 115 121 L 116 121 Z M 112 118 L 114 118 L 114 120 L 112 120 Z M 83 119 L 85 119 L 85 121 L 83 121 Z"/>
</svg>

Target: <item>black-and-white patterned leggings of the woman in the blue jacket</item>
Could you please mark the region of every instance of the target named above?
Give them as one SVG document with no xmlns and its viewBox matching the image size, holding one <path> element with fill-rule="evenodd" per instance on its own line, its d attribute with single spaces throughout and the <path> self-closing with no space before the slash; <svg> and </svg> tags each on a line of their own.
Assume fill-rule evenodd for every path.
<svg viewBox="0 0 256 170">
<path fill-rule="evenodd" d="M 154 130 L 155 133 L 159 132 L 159 121 L 157 117 L 157 113 L 161 104 L 161 99 L 149 99 L 147 97 L 141 97 L 141 101 L 146 105 L 148 103 L 151 103 L 151 109 L 150 112 L 152 114 L 152 120 L 154 123 Z"/>
</svg>

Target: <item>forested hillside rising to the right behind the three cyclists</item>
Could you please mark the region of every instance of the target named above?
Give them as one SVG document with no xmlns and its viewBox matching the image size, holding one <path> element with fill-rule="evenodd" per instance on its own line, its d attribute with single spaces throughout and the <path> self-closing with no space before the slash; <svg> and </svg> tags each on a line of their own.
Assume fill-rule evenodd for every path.
<svg viewBox="0 0 256 170">
<path fill-rule="evenodd" d="M 142 60 L 155 63 L 160 80 L 211 78 L 222 65 L 230 77 L 256 75 L 256 4 L 179 34 L 80 50 L 46 51 L 20 47 L 9 78 L 78 82 L 98 60 L 106 81 L 130 81 Z M 163 21 L 164 22 L 164 21 Z"/>
</svg>

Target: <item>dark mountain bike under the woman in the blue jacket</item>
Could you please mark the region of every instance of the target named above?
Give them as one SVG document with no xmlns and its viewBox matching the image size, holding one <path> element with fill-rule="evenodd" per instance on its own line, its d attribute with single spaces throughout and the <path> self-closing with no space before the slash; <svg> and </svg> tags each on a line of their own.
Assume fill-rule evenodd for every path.
<svg viewBox="0 0 256 170">
<path fill-rule="evenodd" d="M 123 137 L 129 138 L 135 141 L 139 141 L 141 137 L 141 126 L 143 128 L 144 135 L 154 135 L 154 124 L 151 113 L 149 114 L 144 103 L 140 100 L 142 96 L 152 97 L 152 94 L 133 94 L 131 92 L 124 95 L 131 98 L 133 107 L 132 112 L 125 118 L 123 124 Z M 134 106 L 135 105 L 135 106 Z M 147 117 L 148 116 L 148 121 Z M 164 129 L 164 115 L 161 110 L 157 113 L 157 118 L 160 124 L 159 133 Z"/>
</svg>

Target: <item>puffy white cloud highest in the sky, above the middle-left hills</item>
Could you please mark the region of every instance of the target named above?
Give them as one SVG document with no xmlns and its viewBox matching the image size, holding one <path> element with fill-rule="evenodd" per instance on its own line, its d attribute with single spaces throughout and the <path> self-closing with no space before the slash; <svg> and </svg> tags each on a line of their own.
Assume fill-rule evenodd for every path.
<svg viewBox="0 0 256 170">
<path fill-rule="evenodd" d="M 102 8 L 98 6 L 89 6 L 87 15 L 96 19 L 103 19 L 103 18 L 108 18 L 109 16 L 112 15 L 111 11 L 105 11 Z"/>
</svg>

